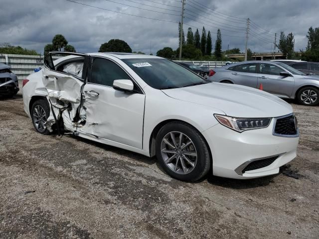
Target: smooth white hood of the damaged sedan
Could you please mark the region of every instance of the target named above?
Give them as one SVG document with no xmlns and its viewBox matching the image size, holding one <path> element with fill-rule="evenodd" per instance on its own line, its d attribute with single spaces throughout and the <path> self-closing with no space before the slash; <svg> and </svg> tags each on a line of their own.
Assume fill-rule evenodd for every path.
<svg viewBox="0 0 319 239">
<path fill-rule="evenodd" d="M 240 85 L 213 82 L 162 91 L 171 98 L 216 108 L 233 117 L 279 117 L 293 112 L 290 104 L 280 98 Z"/>
</svg>

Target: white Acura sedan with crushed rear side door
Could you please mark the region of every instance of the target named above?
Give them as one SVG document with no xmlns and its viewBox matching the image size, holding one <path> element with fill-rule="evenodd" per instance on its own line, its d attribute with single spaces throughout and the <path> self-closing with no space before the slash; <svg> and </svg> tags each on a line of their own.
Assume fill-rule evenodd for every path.
<svg viewBox="0 0 319 239">
<path fill-rule="evenodd" d="M 157 156 L 179 180 L 210 172 L 256 178 L 296 157 L 292 107 L 253 88 L 211 83 L 156 56 L 64 53 L 23 81 L 24 110 L 35 129 L 71 131 Z M 61 54 L 60 52 L 58 54 Z"/>
</svg>

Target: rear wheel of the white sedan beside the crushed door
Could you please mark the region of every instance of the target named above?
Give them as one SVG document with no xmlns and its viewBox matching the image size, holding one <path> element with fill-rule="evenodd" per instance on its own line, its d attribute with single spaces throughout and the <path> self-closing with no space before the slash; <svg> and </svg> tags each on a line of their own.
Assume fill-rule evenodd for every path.
<svg viewBox="0 0 319 239">
<path fill-rule="evenodd" d="M 36 131 L 42 134 L 49 134 L 49 130 L 44 123 L 50 115 L 49 104 L 45 100 L 37 100 L 31 108 L 31 118 Z"/>
</svg>

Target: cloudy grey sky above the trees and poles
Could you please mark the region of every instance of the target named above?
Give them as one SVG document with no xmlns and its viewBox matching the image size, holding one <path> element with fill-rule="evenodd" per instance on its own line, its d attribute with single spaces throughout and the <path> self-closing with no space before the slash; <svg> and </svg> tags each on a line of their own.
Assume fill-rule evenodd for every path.
<svg viewBox="0 0 319 239">
<path fill-rule="evenodd" d="M 78 3 L 0 0 L 0 43 L 43 52 L 55 34 L 62 34 L 77 52 L 96 52 L 102 43 L 113 38 L 125 40 L 133 51 L 146 54 L 156 54 L 165 46 L 176 49 L 178 45 L 180 0 L 72 1 Z M 280 31 L 293 32 L 295 50 L 305 48 L 308 28 L 319 27 L 319 0 L 185 1 L 185 33 L 189 26 L 193 32 L 198 28 L 201 33 L 204 25 L 206 31 L 212 32 L 214 42 L 220 28 L 224 50 L 229 44 L 229 48 L 244 51 L 247 17 L 252 20 L 248 47 L 255 52 L 270 52 L 274 33 L 279 38 Z"/>
</svg>

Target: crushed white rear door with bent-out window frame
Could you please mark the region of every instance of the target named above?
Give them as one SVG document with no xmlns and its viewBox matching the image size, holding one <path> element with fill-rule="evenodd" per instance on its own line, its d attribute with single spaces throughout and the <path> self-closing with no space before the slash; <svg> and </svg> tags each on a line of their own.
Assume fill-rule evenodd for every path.
<svg viewBox="0 0 319 239">
<path fill-rule="evenodd" d="M 57 66 L 53 64 L 52 55 L 69 55 Z M 63 119 L 64 128 L 75 131 L 85 123 L 85 110 L 82 108 L 82 89 L 87 74 L 89 55 L 81 53 L 50 52 L 44 57 L 42 83 L 48 92 L 51 113 L 46 127 Z M 69 63 L 70 62 L 70 63 Z M 77 64 L 71 64 L 76 62 Z M 68 64 L 69 63 L 69 64 Z M 82 64 L 83 63 L 83 64 Z"/>
</svg>

